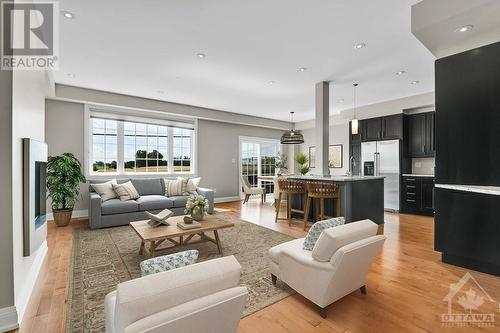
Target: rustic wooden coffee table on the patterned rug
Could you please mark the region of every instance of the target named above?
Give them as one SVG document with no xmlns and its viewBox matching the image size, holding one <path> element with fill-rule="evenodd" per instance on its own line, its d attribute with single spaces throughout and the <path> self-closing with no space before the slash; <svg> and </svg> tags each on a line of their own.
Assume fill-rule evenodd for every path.
<svg viewBox="0 0 500 333">
<path fill-rule="evenodd" d="M 218 230 L 230 228 L 234 226 L 234 223 L 224 221 L 216 215 L 205 215 L 204 220 L 200 222 L 200 228 L 184 230 L 177 226 L 177 222 L 183 219 L 184 216 L 173 216 L 168 219 L 170 225 L 161 225 L 156 228 L 148 224 L 149 220 L 130 222 L 132 229 L 141 238 L 139 254 L 145 254 L 148 258 L 152 258 L 161 252 L 175 247 L 212 242 L 217 245 L 219 254 L 222 255 Z M 207 235 L 209 232 L 214 233 L 214 238 Z M 195 236 L 199 237 L 193 239 Z M 170 245 L 159 248 L 165 242 L 169 242 Z"/>
</svg>

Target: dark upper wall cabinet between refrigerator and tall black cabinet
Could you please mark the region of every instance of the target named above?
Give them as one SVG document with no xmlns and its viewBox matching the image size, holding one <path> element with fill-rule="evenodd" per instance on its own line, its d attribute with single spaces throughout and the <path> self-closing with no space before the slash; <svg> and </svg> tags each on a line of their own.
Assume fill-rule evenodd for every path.
<svg viewBox="0 0 500 333">
<path fill-rule="evenodd" d="M 434 118 L 434 112 L 406 116 L 409 157 L 434 156 Z"/>
</svg>

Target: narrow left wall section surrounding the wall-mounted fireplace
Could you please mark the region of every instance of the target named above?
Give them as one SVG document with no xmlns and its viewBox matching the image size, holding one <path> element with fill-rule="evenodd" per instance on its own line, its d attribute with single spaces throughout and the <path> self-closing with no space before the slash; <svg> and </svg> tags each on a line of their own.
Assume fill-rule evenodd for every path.
<svg viewBox="0 0 500 333">
<path fill-rule="evenodd" d="M 14 299 L 19 322 L 38 276 L 47 243 L 23 256 L 23 138 L 45 141 L 46 76 L 42 71 L 14 71 L 12 98 L 12 223 Z"/>
</svg>

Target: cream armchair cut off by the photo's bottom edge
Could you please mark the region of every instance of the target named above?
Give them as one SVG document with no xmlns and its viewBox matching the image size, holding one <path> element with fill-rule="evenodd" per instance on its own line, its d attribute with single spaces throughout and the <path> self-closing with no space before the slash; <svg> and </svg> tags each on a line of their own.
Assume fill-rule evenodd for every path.
<svg viewBox="0 0 500 333">
<path fill-rule="evenodd" d="M 107 333 L 235 333 L 248 296 L 223 257 L 120 283 L 106 295 Z"/>
</svg>

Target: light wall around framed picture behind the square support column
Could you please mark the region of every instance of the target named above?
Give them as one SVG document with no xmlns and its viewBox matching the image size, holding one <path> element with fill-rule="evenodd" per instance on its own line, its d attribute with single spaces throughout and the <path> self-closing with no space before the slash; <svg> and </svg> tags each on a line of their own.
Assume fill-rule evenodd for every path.
<svg viewBox="0 0 500 333">
<path fill-rule="evenodd" d="M 316 130 L 305 129 L 302 130 L 304 135 L 304 143 L 300 145 L 300 152 L 309 156 L 309 147 L 316 145 Z M 349 169 L 349 124 L 340 124 L 330 126 L 329 144 L 341 144 L 342 145 L 342 168 L 330 168 L 330 174 L 332 175 L 343 175 Z M 317 174 L 317 168 L 312 168 L 309 172 L 310 174 Z"/>
</svg>

